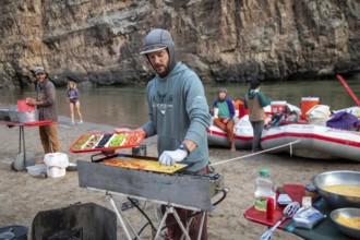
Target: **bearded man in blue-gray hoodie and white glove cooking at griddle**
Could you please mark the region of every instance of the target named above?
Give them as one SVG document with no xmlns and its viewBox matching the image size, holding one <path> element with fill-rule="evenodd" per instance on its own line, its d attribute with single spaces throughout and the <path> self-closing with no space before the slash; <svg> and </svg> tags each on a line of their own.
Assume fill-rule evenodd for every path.
<svg viewBox="0 0 360 240">
<path fill-rule="evenodd" d="M 211 115 L 204 87 L 196 75 L 185 64 L 178 62 L 171 35 L 166 29 L 154 29 L 145 37 L 145 48 L 141 52 L 155 70 L 155 77 L 147 84 L 149 121 L 142 129 L 146 137 L 157 134 L 159 163 L 175 165 L 177 161 L 192 161 L 191 171 L 207 172 L 208 146 L 206 129 Z M 187 194 L 187 193 L 184 193 Z M 177 208 L 181 219 L 189 211 Z M 167 218 L 173 223 L 172 215 Z M 191 225 L 189 235 L 197 239 L 201 215 Z M 182 230 L 176 225 L 168 226 L 171 239 L 180 239 Z M 206 218 L 201 239 L 207 239 Z"/>
</svg>

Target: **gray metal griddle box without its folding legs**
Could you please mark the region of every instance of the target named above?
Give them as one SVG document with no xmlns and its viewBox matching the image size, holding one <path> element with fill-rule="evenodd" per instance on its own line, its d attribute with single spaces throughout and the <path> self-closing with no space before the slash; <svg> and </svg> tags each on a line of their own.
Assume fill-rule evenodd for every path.
<svg viewBox="0 0 360 240">
<path fill-rule="evenodd" d="M 99 159 L 92 157 L 92 161 L 77 160 L 80 187 L 118 192 L 201 211 L 213 211 L 215 207 L 211 199 L 224 190 L 221 176 L 187 171 L 191 164 L 173 173 L 100 164 L 105 159 L 119 156 L 157 160 L 157 158 L 152 157 L 123 154 L 115 154 Z"/>
</svg>

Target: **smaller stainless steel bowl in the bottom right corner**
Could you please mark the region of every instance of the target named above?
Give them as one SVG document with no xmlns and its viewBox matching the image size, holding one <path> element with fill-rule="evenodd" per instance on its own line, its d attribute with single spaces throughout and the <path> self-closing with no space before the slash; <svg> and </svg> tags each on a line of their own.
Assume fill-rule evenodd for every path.
<svg viewBox="0 0 360 240">
<path fill-rule="evenodd" d="M 351 208 L 351 207 L 338 208 L 331 213 L 331 218 L 339 231 L 341 231 L 344 235 L 358 239 L 360 236 L 360 228 L 351 228 L 338 223 L 336 218 L 339 216 L 344 216 L 347 218 L 353 218 L 353 217 L 360 218 L 360 208 Z"/>
</svg>

